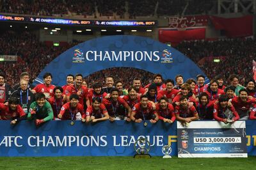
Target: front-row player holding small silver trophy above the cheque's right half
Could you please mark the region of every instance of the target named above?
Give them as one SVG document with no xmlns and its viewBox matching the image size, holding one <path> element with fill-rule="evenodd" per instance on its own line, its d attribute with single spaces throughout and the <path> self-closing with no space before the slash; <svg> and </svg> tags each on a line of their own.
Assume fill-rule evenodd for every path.
<svg viewBox="0 0 256 170">
<path fill-rule="evenodd" d="M 239 120 L 239 114 L 236 109 L 228 106 L 227 95 L 220 95 L 218 104 L 214 104 L 213 117 L 217 121 L 232 123 Z"/>
</svg>

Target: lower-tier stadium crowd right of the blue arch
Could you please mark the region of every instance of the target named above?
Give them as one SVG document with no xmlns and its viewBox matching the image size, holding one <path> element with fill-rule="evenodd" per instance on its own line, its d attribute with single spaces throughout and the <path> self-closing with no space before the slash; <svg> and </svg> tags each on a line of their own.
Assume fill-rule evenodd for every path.
<svg viewBox="0 0 256 170">
<path fill-rule="evenodd" d="M 231 73 L 236 73 L 242 78 L 241 84 L 244 84 L 253 77 L 252 61 L 256 55 L 255 45 L 255 39 L 237 38 L 182 42 L 176 48 L 197 63 L 209 79 L 223 75 L 224 79 L 228 80 Z M 209 59 L 205 58 L 206 56 Z M 200 63 L 204 58 L 204 62 Z M 220 63 L 214 63 L 213 58 L 219 58 Z"/>
</svg>

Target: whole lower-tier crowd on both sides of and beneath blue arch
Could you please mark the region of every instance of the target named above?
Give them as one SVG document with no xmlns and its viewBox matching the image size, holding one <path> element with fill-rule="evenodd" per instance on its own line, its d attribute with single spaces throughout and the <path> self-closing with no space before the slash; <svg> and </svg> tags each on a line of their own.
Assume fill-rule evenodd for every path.
<svg viewBox="0 0 256 170">
<path fill-rule="evenodd" d="M 6 83 L 13 86 L 19 81 L 21 72 L 29 72 L 31 81 L 34 80 L 42 69 L 50 63 L 54 58 L 62 52 L 73 47 L 78 42 L 70 43 L 67 46 L 47 46 L 40 42 L 36 35 L 27 31 L 6 31 L 0 36 L 0 54 L 1 55 L 17 55 L 19 62 L 4 62 L 0 64 L 0 72 L 6 75 Z M 241 79 L 241 84 L 250 80 L 253 77 L 252 60 L 256 52 L 254 47 L 255 39 L 223 39 L 215 41 L 193 41 L 182 42 L 177 47 L 177 50 L 188 56 L 194 61 L 204 72 L 209 79 L 216 75 L 223 75 L 224 84 L 228 83 L 228 76 L 231 73 L 238 74 Z M 38 61 L 40 58 L 40 62 Z M 219 63 L 214 63 L 213 59 L 219 58 Z M 106 75 L 112 75 L 114 79 L 121 79 L 125 88 L 131 86 L 132 78 L 123 79 L 124 76 L 135 73 L 133 77 L 139 77 L 143 86 L 150 82 L 152 73 L 143 70 L 134 70 L 135 68 L 109 68 L 93 73 L 86 77 L 86 81 L 90 82 L 91 87 L 93 82 L 102 81 Z M 119 72 L 116 72 L 119 71 Z M 122 75 L 120 75 L 122 73 Z M 121 77 L 121 78 L 118 78 Z"/>
</svg>

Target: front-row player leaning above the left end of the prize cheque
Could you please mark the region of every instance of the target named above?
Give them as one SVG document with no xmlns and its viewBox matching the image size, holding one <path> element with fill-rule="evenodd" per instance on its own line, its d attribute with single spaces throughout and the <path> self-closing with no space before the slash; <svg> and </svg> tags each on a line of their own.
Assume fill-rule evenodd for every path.
<svg viewBox="0 0 256 170">
<path fill-rule="evenodd" d="M 175 106 L 176 119 L 180 121 L 182 125 L 188 126 L 191 121 L 198 120 L 198 113 L 195 107 L 190 106 L 188 103 L 188 98 L 182 96 L 180 97 L 180 105 Z"/>
</svg>

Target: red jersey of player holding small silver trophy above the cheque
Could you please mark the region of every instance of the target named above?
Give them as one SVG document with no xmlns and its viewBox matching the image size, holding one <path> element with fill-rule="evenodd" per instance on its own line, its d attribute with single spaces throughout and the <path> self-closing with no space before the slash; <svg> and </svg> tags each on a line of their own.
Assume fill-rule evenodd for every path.
<svg viewBox="0 0 256 170">
<path fill-rule="evenodd" d="M 220 107 L 219 104 L 214 104 L 213 117 L 217 121 L 223 121 L 224 119 L 228 120 L 239 120 L 239 115 L 236 109 L 232 107 L 225 107 L 224 109 Z"/>
</svg>

